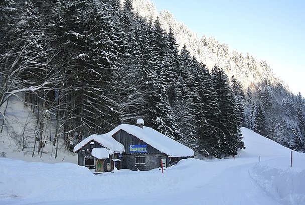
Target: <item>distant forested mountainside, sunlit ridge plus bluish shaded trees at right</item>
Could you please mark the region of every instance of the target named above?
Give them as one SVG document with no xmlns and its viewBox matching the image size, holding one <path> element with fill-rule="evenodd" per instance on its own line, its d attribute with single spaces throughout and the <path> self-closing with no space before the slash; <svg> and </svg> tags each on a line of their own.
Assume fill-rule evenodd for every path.
<svg viewBox="0 0 305 205">
<path fill-rule="evenodd" d="M 198 38 L 169 11 L 158 14 L 151 1 L 133 0 L 133 5 L 142 17 L 158 18 L 165 31 L 171 28 L 180 47 L 187 45 L 190 54 L 206 64 L 210 71 L 216 64 L 224 69 L 230 80 L 234 81 L 231 77 L 234 76 L 241 83 L 246 99 L 243 126 L 291 149 L 304 151 L 304 99 L 300 93 L 293 95 L 265 60 L 257 60 L 249 53 L 243 54 L 225 43 L 220 44 L 212 36 Z M 262 110 L 257 112 L 259 107 Z M 256 116 L 258 113 L 261 117 Z"/>
</svg>

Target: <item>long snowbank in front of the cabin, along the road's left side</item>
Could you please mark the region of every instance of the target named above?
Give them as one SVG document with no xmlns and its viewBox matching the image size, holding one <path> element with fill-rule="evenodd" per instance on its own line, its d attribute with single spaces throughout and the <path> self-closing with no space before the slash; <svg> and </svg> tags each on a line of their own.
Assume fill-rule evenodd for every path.
<svg viewBox="0 0 305 205">
<path fill-rule="evenodd" d="M 14 200 L 22 199 L 29 203 L 41 204 L 43 201 L 78 201 L 98 200 L 100 198 L 128 197 L 133 194 L 159 194 L 160 190 L 169 191 L 185 187 L 191 179 L 194 183 L 196 175 L 206 162 L 194 160 L 197 168 L 184 166 L 184 170 L 175 167 L 165 170 L 151 171 L 117 170 L 114 173 L 94 175 L 86 168 L 72 163 L 47 164 L 42 162 L 24 162 L 0 158 L 0 204 L 4 199 L 15 204 Z M 191 165 L 192 162 L 187 164 Z M 172 174 L 167 174 L 173 170 Z M 177 180 L 177 178 L 179 178 Z M 23 204 L 21 203 L 21 204 Z M 74 202 L 75 203 L 75 202 Z M 52 204 L 52 202 L 51 202 Z M 78 202 L 76 202 L 78 204 Z"/>
</svg>

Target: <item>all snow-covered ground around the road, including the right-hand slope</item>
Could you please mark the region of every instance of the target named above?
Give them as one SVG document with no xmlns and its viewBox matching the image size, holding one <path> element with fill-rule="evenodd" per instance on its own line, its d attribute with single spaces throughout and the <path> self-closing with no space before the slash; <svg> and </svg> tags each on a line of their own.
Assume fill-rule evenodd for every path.
<svg viewBox="0 0 305 205">
<path fill-rule="evenodd" d="M 305 155 L 293 152 L 290 167 L 291 150 L 242 133 L 235 158 L 186 159 L 164 174 L 0 158 L 0 204 L 305 204 Z"/>
</svg>

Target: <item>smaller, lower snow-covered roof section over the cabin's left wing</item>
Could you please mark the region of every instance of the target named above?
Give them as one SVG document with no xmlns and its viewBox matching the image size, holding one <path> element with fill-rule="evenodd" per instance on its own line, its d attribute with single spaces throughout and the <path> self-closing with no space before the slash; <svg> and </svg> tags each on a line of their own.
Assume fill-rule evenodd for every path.
<svg viewBox="0 0 305 205">
<path fill-rule="evenodd" d="M 110 132 L 103 135 L 90 135 L 89 137 L 75 145 L 73 152 L 79 151 L 81 148 L 83 148 L 85 145 L 92 141 L 98 142 L 103 147 L 107 148 L 109 154 L 113 154 L 113 152 L 125 152 L 124 146 L 115 139 L 113 139 L 112 134 Z"/>
</svg>

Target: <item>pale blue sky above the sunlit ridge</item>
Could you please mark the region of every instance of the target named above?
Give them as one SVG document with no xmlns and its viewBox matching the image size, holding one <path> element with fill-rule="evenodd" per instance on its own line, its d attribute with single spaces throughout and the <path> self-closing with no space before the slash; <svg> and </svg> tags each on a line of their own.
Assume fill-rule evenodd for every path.
<svg viewBox="0 0 305 205">
<path fill-rule="evenodd" d="M 199 37 L 213 36 L 230 49 L 266 60 L 293 91 L 305 97 L 305 1 L 150 0 Z"/>
</svg>

